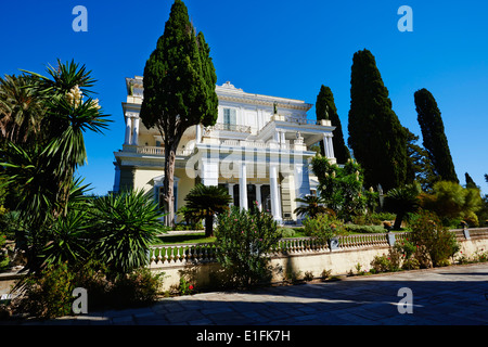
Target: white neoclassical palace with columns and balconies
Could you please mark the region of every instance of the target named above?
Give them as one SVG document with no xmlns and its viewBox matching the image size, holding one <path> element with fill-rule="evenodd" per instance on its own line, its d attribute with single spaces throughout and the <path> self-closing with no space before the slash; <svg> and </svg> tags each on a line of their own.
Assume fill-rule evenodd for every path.
<svg viewBox="0 0 488 347">
<path fill-rule="evenodd" d="M 164 141 L 156 129 L 139 118 L 143 98 L 142 77 L 126 78 L 127 101 L 123 149 L 114 152 L 114 192 L 143 189 L 162 203 Z M 216 86 L 218 119 L 213 127 L 187 129 L 179 144 L 175 169 L 175 208 L 198 182 L 229 190 L 233 205 L 257 204 L 279 223 L 299 222 L 295 198 L 317 191 L 310 171 L 316 155 L 310 146 L 324 142 L 334 158 L 330 120 L 307 119 L 311 104 L 300 100 L 244 92 L 230 82 Z"/>
</svg>

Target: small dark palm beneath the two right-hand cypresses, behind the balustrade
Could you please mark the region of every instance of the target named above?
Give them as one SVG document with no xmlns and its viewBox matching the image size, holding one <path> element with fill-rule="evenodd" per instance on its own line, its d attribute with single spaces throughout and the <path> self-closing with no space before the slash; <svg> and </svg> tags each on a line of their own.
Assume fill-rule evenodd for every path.
<svg viewBox="0 0 488 347">
<path fill-rule="evenodd" d="M 391 189 L 385 195 L 385 209 L 396 214 L 394 229 L 399 230 L 401 221 L 408 213 L 415 211 L 420 206 L 419 195 L 422 190 L 419 183 L 406 184 Z"/>
</svg>

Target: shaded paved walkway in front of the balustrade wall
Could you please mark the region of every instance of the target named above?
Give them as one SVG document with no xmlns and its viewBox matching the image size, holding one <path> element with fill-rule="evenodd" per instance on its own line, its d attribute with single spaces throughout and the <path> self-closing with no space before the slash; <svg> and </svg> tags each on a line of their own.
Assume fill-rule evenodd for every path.
<svg viewBox="0 0 488 347">
<path fill-rule="evenodd" d="M 400 304 L 408 295 L 412 305 Z M 400 313 L 400 310 L 412 312 Z M 0 322 L 1 323 L 1 322 Z M 488 325 L 488 264 L 165 298 L 23 325 Z"/>
</svg>

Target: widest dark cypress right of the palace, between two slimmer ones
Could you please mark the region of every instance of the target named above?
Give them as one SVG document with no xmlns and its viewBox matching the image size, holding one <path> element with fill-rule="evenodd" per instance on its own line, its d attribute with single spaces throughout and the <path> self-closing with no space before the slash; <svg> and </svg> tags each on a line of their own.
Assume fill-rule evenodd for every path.
<svg viewBox="0 0 488 347">
<path fill-rule="evenodd" d="M 364 169 L 365 187 L 404 184 L 407 133 L 370 51 L 355 53 L 351 68 L 349 147 Z"/>
</svg>

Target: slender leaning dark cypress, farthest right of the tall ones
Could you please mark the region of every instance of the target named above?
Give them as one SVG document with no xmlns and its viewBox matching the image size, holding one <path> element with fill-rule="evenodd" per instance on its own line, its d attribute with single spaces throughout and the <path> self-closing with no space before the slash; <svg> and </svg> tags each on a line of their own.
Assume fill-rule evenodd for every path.
<svg viewBox="0 0 488 347">
<path fill-rule="evenodd" d="M 444 130 L 444 121 L 433 94 L 424 89 L 414 93 L 419 125 L 425 150 L 439 180 L 459 183 Z"/>
</svg>

